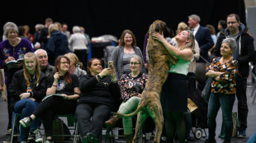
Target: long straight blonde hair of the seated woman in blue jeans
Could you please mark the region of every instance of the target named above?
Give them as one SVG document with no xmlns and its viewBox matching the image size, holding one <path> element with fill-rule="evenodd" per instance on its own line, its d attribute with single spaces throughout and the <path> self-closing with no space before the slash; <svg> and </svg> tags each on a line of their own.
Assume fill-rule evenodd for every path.
<svg viewBox="0 0 256 143">
<path fill-rule="evenodd" d="M 24 62 L 23 62 L 23 71 L 24 71 L 24 77 L 26 79 L 26 84 L 31 84 L 31 75 L 30 73 L 27 71 L 26 69 L 26 65 L 25 65 L 25 62 L 26 62 L 26 58 L 33 58 L 35 61 L 36 61 L 36 69 L 35 69 L 35 75 L 36 75 L 36 83 L 38 83 L 39 79 L 40 79 L 40 67 L 39 67 L 39 64 L 38 64 L 38 61 L 37 61 L 37 57 L 36 57 L 36 53 L 26 53 L 24 55 Z"/>
</svg>

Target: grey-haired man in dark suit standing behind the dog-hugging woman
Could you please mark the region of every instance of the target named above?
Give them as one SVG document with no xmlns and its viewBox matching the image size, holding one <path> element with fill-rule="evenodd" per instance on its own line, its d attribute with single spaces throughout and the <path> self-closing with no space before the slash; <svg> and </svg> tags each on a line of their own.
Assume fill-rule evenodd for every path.
<svg viewBox="0 0 256 143">
<path fill-rule="evenodd" d="M 195 35 L 197 39 L 197 43 L 200 48 L 200 58 L 197 60 L 196 66 L 196 78 L 198 81 L 198 88 L 202 90 L 206 85 L 206 62 L 210 62 L 210 58 L 208 56 L 208 50 L 212 48 L 214 45 L 213 40 L 211 39 L 211 34 L 209 30 L 200 23 L 200 17 L 193 14 L 188 16 L 187 21 L 193 35 Z"/>
</svg>

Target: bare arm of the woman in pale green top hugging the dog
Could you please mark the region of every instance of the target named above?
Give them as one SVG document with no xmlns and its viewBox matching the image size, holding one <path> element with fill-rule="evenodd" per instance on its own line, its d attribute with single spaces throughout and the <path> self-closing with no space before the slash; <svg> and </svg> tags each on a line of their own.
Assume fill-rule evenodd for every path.
<svg viewBox="0 0 256 143">
<path fill-rule="evenodd" d="M 168 53 L 172 54 L 173 56 L 179 59 L 191 61 L 193 53 L 190 48 L 178 50 L 178 48 L 175 48 L 172 44 L 169 44 L 167 40 L 164 39 L 164 36 L 160 35 L 159 33 L 154 33 L 153 38 L 158 40 L 161 44 L 164 44 L 164 47 L 168 50 Z"/>
</svg>

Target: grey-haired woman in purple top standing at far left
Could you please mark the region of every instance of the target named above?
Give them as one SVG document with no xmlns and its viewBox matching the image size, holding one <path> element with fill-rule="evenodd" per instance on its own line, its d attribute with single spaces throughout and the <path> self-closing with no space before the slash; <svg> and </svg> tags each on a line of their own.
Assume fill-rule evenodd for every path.
<svg viewBox="0 0 256 143">
<path fill-rule="evenodd" d="M 22 69 L 22 64 L 16 64 L 15 67 L 6 68 L 7 62 L 23 58 L 28 52 L 34 52 L 29 40 L 18 37 L 18 27 L 13 22 L 7 22 L 3 27 L 3 35 L 7 39 L 0 43 L 0 68 L 4 68 L 5 84 L 7 85 L 7 106 L 8 106 L 8 127 L 10 131 L 12 128 L 12 110 L 10 109 L 11 94 L 9 92 L 9 85 L 12 82 L 12 77 L 16 71 Z"/>
</svg>

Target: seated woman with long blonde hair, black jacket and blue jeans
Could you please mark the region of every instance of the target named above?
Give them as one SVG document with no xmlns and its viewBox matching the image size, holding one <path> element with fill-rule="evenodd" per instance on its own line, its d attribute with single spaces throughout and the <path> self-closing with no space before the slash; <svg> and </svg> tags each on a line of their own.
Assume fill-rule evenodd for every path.
<svg viewBox="0 0 256 143">
<path fill-rule="evenodd" d="M 30 116 L 45 97 L 46 76 L 40 72 L 35 53 L 24 55 L 23 70 L 15 72 L 9 90 L 11 107 L 15 113 L 21 114 L 21 118 Z M 27 141 L 30 129 L 36 134 L 36 142 L 42 141 L 39 127 L 39 119 L 31 122 L 31 127 L 21 127 L 21 143 Z"/>
</svg>

